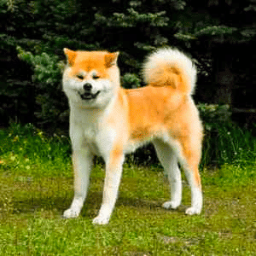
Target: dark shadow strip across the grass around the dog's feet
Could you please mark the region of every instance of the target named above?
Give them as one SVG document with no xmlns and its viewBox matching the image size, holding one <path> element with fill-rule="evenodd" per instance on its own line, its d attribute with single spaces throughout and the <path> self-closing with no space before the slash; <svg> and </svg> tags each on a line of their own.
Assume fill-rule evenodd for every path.
<svg viewBox="0 0 256 256">
<path fill-rule="evenodd" d="M 58 190 L 53 191 L 47 189 L 29 189 L 16 192 L 13 198 L 13 214 L 28 214 L 33 215 L 38 212 L 55 212 L 54 215 L 60 216 L 70 206 L 73 200 L 73 190 Z M 141 198 L 131 198 L 119 196 L 116 207 L 128 207 L 129 211 L 147 213 L 159 212 L 179 212 L 185 211 L 184 206 L 178 207 L 176 210 L 166 210 L 162 205 L 162 201 L 147 200 Z M 84 207 L 81 212 L 81 217 L 93 218 L 96 216 L 102 205 L 102 191 L 90 191 L 87 200 L 84 202 Z"/>
</svg>

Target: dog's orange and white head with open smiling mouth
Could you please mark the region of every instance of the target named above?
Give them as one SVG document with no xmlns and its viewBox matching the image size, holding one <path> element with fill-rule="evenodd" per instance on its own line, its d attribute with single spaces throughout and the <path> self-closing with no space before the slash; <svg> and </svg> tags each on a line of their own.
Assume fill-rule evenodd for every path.
<svg viewBox="0 0 256 256">
<path fill-rule="evenodd" d="M 64 49 L 67 67 L 63 90 L 69 102 L 81 108 L 104 108 L 119 89 L 119 53 Z"/>
</svg>

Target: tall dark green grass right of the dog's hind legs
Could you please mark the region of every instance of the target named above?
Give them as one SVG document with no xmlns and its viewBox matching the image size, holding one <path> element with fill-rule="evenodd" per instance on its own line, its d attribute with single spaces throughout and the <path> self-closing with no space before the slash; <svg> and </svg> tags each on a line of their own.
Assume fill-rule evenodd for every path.
<svg viewBox="0 0 256 256">
<path fill-rule="evenodd" d="M 204 138 L 201 166 L 253 165 L 256 160 L 256 126 L 252 131 L 233 123 L 212 124 Z"/>
</svg>

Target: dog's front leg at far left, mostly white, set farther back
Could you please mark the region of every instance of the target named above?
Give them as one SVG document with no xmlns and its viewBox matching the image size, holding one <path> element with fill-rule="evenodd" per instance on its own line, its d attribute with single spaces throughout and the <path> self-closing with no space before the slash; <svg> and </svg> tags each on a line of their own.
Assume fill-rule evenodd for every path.
<svg viewBox="0 0 256 256">
<path fill-rule="evenodd" d="M 73 151 L 74 197 L 71 207 L 63 213 L 64 218 L 77 218 L 84 204 L 90 180 L 92 155 L 85 148 Z"/>
</svg>

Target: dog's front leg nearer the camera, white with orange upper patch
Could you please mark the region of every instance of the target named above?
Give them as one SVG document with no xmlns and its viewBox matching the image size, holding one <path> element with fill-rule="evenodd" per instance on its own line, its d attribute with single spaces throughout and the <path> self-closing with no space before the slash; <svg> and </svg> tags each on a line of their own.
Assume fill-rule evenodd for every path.
<svg viewBox="0 0 256 256">
<path fill-rule="evenodd" d="M 122 151 L 111 154 L 106 161 L 106 177 L 103 188 L 102 207 L 93 224 L 108 224 L 113 207 L 118 196 L 119 183 L 122 176 L 123 162 L 125 156 Z"/>
</svg>

